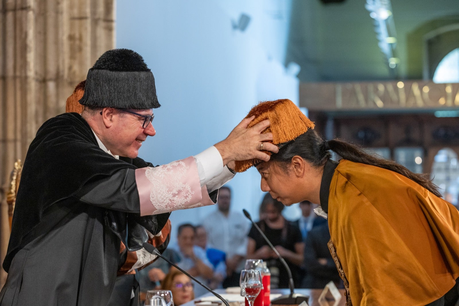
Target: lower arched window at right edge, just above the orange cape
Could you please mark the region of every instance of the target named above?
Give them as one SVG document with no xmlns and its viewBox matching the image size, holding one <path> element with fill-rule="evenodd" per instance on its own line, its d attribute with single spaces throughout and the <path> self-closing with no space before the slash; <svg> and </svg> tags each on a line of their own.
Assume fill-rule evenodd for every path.
<svg viewBox="0 0 459 306">
<path fill-rule="evenodd" d="M 459 204 L 459 161 L 452 149 L 443 148 L 435 155 L 431 178 L 440 187 L 445 200 L 453 205 Z"/>
</svg>

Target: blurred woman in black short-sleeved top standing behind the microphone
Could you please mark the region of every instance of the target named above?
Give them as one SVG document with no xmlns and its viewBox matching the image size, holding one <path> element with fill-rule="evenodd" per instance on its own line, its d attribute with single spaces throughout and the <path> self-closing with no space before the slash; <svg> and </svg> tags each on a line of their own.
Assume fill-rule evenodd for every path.
<svg viewBox="0 0 459 306">
<path fill-rule="evenodd" d="M 265 211 L 266 218 L 258 221 L 257 225 L 284 257 L 290 266 L 293 281 L 298 286 L 298 270 L 303 261 L 304 250 L 301 232 L 298 227 L 285 220 L 281 214 L 284 205 L 271 198 L 269 193 L 264 196 L 260 209 Z M 253 226 L 248 236 L 247 258 L 261 258 L 267 262 L 271 271 L 271 288 L 288 288 L 288 273 L 263 236 Z"/>
</svg>

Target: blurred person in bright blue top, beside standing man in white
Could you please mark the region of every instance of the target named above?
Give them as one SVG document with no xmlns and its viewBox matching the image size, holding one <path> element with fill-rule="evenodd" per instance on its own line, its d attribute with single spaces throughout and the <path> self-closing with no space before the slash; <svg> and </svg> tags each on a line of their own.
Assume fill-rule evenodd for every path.
<svg viewBox="0 0 459 306">
<path fill-rule="evenodd" d="M 223 288 L 222 283 L 226 278 L 225 252 L 207 247 L 207 233 L 202 225 L 196 227 L 195 244 L 206 251 L 207 259 L 213 266 L 213 277 L 207 283 L 210 289 Z"/>
</svg>

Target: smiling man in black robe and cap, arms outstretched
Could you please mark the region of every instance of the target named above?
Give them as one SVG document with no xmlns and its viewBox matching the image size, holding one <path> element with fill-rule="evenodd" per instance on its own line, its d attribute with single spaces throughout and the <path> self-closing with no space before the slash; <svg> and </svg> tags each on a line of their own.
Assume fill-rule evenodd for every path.
<svg viewBox="0 0 459 306">
<path fill-rule="evenodd" d="M 138 149 L 156 133 L 151 108 L 159 103 L 153 74 L 127 49 L 98 59 L 80 103 L 82 115 L 49 119 L 29 147 L 3 262 L 8 278 L 1 306 L 106 305 L 121 240 L 130 251 L 141 249 L 170 211 L 212 204 L 218 185 L 232 177 L 227 164 L 269 159 L 258 151 L 261 143 L 277 151 L 265 142 L 270 135 L 260 135 L 269 122 L 246 129 L 250 120 L 243 120 L 210 148 L 221 162 L 213 172 L 204 166 L 212 173 L 207 177 L 197 157 L 148 168 Z"/>
</svg>

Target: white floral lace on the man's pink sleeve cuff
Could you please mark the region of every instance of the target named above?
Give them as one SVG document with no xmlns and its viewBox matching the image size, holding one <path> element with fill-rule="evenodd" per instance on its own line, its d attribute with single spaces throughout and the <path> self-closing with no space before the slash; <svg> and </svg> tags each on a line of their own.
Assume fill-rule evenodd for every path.
<svg viewBox="0 0 459 306">
<path fill-rule="evenodd" d="M 157 209 L 155 213 L 188 208 L 194 191 L 181 180 L 189 167 L 183 161 L 175 161 L 159 167 L 148 167 L 145 176 L 151 182 L 150 201 Z"/>
</svg>

